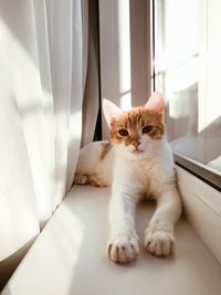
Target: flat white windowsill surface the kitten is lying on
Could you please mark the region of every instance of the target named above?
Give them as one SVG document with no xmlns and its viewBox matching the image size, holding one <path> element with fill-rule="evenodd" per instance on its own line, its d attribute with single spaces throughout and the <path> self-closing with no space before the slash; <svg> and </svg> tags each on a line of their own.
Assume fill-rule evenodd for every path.
<svg viewBox="0 0 221 295">
<path fill-rule="evenodd" d="M 2 295 L 220 295 L 221 265 L 188 223 L 177 224 L 177 251 L 141 251 L 123 266 L 104 255 L 109 190 L 74 187 L 24 257 Z M 154 208 L 140 206 L 140 236 Z"/>
</svg>

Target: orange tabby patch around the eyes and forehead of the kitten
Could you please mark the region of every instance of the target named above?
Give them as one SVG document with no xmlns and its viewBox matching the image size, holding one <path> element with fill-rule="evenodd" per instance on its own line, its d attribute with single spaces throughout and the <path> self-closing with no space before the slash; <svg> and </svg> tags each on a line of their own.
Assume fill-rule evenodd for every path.
<svg viewBox="0 0 221 295">
<path fill-rule="evenodd" d="M 151 131 L 145 136 L 154 140 L 160 139 L 166 131 L 165 124 L 155 113 L 145 107 L 133 108 L 114 118 L 109 129 L 110 139 L 114 143 L 124 143 L 126 146 L 133 145 L 139 140 L 139 133 L 146 126 L 152 126 Z M 127 129 L 128 136 L 120 136 L 118 133 L 120 129 Z"/>
</svg>

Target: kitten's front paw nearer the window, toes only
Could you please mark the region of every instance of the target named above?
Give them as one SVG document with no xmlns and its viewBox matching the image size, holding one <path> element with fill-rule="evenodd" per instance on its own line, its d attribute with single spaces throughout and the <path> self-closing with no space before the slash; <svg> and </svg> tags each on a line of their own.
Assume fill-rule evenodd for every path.
<svg viewBox="0 0 221 295">
<path fill-rule="evenodd" d="M 146 231 L 144 245 L 151 255 L 166 256 L 171 254 L 175 243 L 176 240 L 172 233 L 149 229 Z"/>
</svg>

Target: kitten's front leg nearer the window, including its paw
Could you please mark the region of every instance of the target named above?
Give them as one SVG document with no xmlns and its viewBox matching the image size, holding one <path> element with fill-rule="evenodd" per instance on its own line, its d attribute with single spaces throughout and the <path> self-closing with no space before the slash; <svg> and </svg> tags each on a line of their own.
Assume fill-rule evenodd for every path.
<svg viewBox="0 0 221 295">
<path fill-rule="evenodd" d="M 181 201 L 176 188 L 164 190 L 157 199 L 157 210 L 145 233 L 145 247 L 156 256 L 165 256 L 175 246 L 175 224 L 181 214 Z"/>
</svg>

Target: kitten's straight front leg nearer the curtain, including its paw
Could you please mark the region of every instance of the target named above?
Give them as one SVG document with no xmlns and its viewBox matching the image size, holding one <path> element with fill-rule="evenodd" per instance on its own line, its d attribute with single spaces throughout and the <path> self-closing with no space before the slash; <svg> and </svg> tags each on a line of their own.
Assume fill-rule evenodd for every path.
<svg viewBox="0 0 221 295">
<path fill-rule="evenodd" d="M 126 192 L 113 191 L 109 203 L 110 239 L 106 253 L 117 263 L 134 261 L 139 254 L 138 235 L 135 231 L 136 200 Z"/>
</svg>

